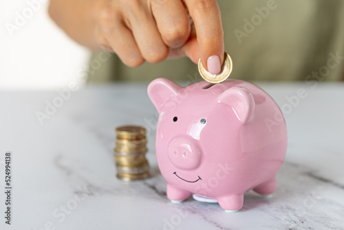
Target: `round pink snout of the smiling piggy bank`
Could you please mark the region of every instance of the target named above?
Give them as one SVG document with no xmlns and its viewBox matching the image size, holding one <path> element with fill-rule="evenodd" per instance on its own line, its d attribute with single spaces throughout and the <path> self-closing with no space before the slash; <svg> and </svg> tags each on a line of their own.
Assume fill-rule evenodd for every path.
<svg viewBox="0 0 344 230">
<path fill-rule="evenodd" d="M 200 165 L 201 152 L 192 138 L 174 138 L 169 145 L 171 163 L 180 169 L 195 169 Z"/>
</svg>

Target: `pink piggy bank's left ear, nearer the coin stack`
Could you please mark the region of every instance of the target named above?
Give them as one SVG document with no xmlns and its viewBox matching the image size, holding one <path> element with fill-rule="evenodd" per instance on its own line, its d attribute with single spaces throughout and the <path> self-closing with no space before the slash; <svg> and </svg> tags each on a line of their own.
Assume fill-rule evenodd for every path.
<svg viewBox="0 0 344 230">
<path fill-rule="evenodd" d="M 180 86 L 169 79 L 155 79 L 148 85 L 148 96 L 158 112 L 162 105 L 171 97 L 178 94 Z"/>
</svg>

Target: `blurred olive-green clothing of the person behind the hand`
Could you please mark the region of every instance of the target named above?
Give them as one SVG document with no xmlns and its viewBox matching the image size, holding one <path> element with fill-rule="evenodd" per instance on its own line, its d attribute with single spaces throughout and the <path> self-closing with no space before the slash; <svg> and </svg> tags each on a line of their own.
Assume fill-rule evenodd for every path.
<svg viewBox="0 0 344 230">
<path fill-rule="evenodd" d="M 343 79 L 344 1 L 219 0 L 218 3 L 225 50 L 233 60 L 231 78 L 310 81 L 316 78 L 312 73 L 318 72 L 321 81 Z M 94 53 L 92 60 L 97 55 Z M 197 65 L 187 58 L 131 68 L 111 54 L 108 61 L 89 75 L 89 81 L 151 81 L 158 77 L 173 81 L 200 79 Z"/>
</svg>

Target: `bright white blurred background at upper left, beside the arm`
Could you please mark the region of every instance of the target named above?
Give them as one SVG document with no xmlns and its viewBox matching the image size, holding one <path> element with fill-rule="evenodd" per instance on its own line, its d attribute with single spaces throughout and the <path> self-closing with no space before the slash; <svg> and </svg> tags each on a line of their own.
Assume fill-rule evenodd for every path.
<svg viewBox="0 0 344 230">
<path fill-rule="evenodd" d="M 0 0 L 0 90 L 83 84 L 80 69 L 87 70 L 89 51 L 57 27 L 48 5 L 47 0 Z"/>
</svg>

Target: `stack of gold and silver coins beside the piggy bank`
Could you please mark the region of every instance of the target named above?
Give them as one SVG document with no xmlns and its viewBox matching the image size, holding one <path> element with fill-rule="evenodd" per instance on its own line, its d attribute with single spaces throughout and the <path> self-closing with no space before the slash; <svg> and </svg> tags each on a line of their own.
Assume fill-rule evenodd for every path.
<svg viewBox="0 0 344 230">
<path fill-rule="evenodd" d="M 115 160 L 117 178 L 120 180 L 141 180 L 149 176 L 146 159 L 146 129 L 140 126 L 116 128 Z"/>
</svg>

